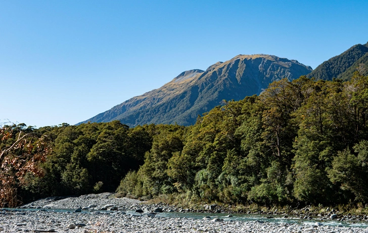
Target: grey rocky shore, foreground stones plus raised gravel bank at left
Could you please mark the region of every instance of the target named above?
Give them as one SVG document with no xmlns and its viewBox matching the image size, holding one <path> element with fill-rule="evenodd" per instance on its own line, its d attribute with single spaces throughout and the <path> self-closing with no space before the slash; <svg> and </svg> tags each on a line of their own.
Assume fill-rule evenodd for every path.
<svg viewBox="0 0 368 233">
<path fill-rule="evenodd" d="M 0 210 L 0 232 L 367 232 L 365 224 L 356 224 L 359 227 L 346 227 L 338 223 L 337 219 L 342 218 L 338 214 L 331 214 L 328 217 L 329 219 L 336 217 L 334 221 L 338 224 L 335 226 L 329 225 L 321 218 L 319 221 L 288 223 L 271 222 L 266 217 L 264 220 L 240 221 L 234 220 L 236 218 L 232 218 L 231 215 L 213 216 L 211 214 L 200 219 L 198 216 L 197 218 L 167 217 L 167 214 L 162 212 L 190 210 L 163 204 L 148 205 L 128 198 L 114 198 L 110 193 L 45 198 L 21 208 L 31 208 L 31 210 Z M 206 205 L 203 211 L 218 212 L 219 209 L 216 208 L 214 205 Z M 64 210 L 60 211 L 60 209 Z M 284 215 L 284 218 L 286 216 Z M 267 217 L 272 218 L 272 215 L 269 214 Z"/>
</svg>

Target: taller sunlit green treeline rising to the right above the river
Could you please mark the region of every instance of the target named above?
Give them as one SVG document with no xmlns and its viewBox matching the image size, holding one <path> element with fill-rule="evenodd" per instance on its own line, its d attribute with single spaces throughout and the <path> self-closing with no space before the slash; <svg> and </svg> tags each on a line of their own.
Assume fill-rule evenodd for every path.
<svg viewBox="0 0 368 233">
<path fill-rule="evenodd" d="M 368 77 L 275 81 L 153 137 L 118 192 L 222 203 L 368 201 Z"/>
</svg>

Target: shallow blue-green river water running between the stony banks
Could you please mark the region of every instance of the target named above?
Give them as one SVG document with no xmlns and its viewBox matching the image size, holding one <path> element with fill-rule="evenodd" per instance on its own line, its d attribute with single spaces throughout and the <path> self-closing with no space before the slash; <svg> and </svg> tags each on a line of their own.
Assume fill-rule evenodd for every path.
<svg viewBox="0 0 368 233">
<path fill-rule="evenodd" d="M 72 213 L 74 210 L 71 209 L 22 209 L 22 208 L 4 208 L 1 210 L 10 210 L 10 211 L 45 211 L 45 212 L 70 212 Z M 119 211 L 107 211 L 107 210 L 96 210 L 93 212 L 100 212 L 100 213 L 117 213 Z M 135 214 L 140 215 L 139 213 L 135 213 L 135 211 L 124 211 L 126 214 Z M 81 213 L 91 213 L 89 210 L 82 210 Z M 368 227 L 368 222 L 353 222 L 353 221 L 336 221 L 336 220 L 321 220 L 317 218 L 313 219 L 300 219 L 297 216 L 288 215 L 288 218 L 284 218 L 285 215 L 264 215 L 264 214 L 231 214 L 233 217 L 228 217 L 227 213 L 181 213 L 181 212 L 163 212 L 157 213 L 156 217 L 168 217 L 168 218 L 193 218 L 193 219 L 202 219 L 206 216 L 210 216 L 211 219 L 213 218 L 220 218 L 224 221 L 260 221 L 260 222 L 272 222 L 278 224 L 298 224 L 298 225 L 314 225 L 316 222 L 320 222 L 324 225 L 328 226 L 339 226 L 339 227 L 359 227 L 359 228 L 366 228 Z M 273 218 L 267 218 L 268 216 L 272 216 Z"/>
</svg>

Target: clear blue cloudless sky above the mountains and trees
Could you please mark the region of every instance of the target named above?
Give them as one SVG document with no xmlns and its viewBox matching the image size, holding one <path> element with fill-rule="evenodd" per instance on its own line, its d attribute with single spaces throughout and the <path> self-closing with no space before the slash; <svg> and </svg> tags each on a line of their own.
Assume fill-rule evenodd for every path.
<svg viewBox="0 0 368 233">
<path fill-rule="evenodd" d="M 313 69 L 368 41 L 368 1 L 0 1 L 0 122 L 75 124 L 238 54 Z"/>
</svg>

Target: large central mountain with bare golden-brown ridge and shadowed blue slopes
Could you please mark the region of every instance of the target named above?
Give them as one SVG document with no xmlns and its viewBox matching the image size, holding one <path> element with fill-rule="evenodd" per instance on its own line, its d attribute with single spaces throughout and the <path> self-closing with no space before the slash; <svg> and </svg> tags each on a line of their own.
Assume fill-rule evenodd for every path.
<svg viewBox="0 0 368 233">
<path fill-rule="evenodd" d="M 199 114 L 220 105 L 222 100 L 258 95 L 274 80 L 285 77 L 292 80 L 311 71 L 310 66 L 296 60 L 264 54 L 238 55 L 227 62 L 217 62 L 206 71 L 182 72 L 162 87 L 80 123 L 120 120 L 129 126 L 191 125 Z"/>
</svg>

